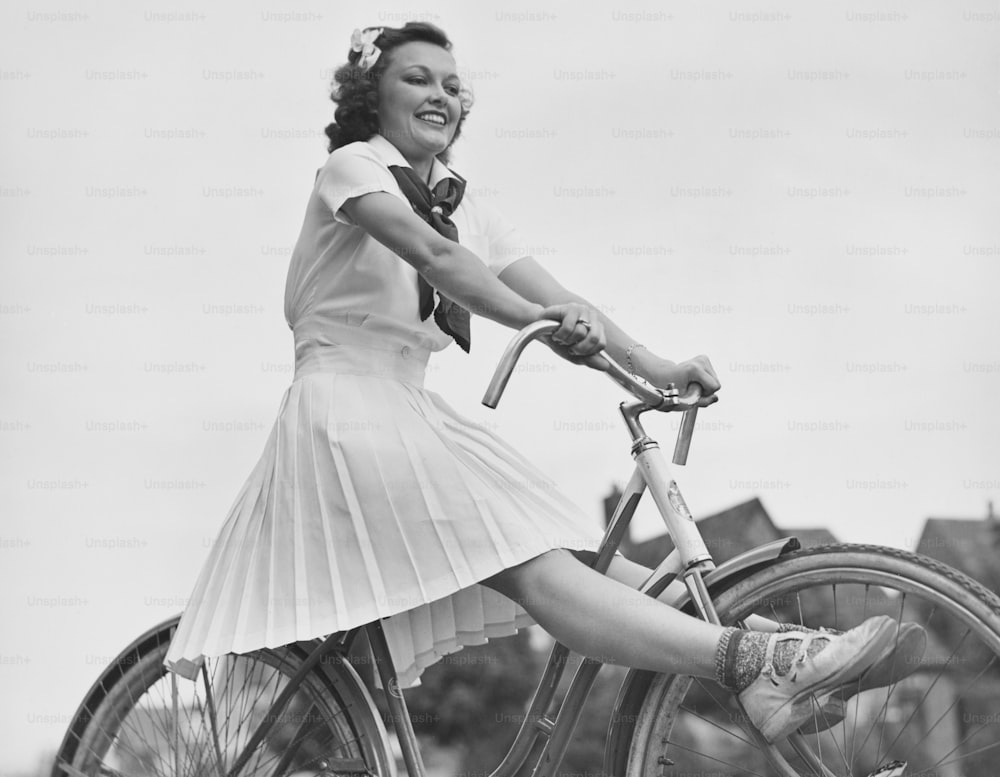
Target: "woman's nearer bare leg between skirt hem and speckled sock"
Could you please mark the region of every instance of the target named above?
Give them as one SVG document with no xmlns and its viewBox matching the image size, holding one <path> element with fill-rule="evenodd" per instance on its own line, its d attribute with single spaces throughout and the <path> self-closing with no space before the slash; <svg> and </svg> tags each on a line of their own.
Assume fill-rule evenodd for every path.
<svg viewBox="0 0 1000 777">
<path fill-rule="evenodd" d="M 715 677 L 721 627 L 664 607 L 595 572 L 569 551 L 543 553 L 482 583 L 516 601 L 582 655 L 654 672 Z"/>
</svg>

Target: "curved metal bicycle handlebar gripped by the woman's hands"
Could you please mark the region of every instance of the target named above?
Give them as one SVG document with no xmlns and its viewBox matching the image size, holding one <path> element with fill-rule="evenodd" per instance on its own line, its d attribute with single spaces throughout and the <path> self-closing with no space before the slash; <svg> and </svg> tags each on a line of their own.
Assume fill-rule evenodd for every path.
<svg viewBox="0 0 1000 777">
<path fill-rule="evenodd" d="M 514 366 L 517 364 L 521 352 L 532 340 L 537 340 L 555 332 L 561 324 L 558 321 L 535 321 L 521 329 L 504 350 L 493 379 L 483 396 L 483 404 L 489 408 L 496 408 L 500 402 L 500 397 L 507 388 Z M 608 356 L 606 351 L 598 354 L 604 359 L 605 364 L 596 367 L 592 361 L 588 360 L 589 366 L 607 373 L 615 383 L 629 392 L 640 402 L 645 403 L 653 410 L 670 412 L 672 410 L 683 410 L 684 418 L 681 421 L 681 428 L 677 435 L 677 445 L 674 448 L 674 463 L 683 464 L 687 459 L 688 447 L 691 444 L 691 434 L 694 431 L 694 423 L 698 413 L 698 400 L 701 399 L 701 387 L 697 383 L 690 384 L 688 391 L 682 397 L 678 394 L 677 388 L 670 384 L 666 389 L 660 389 L 637 380 L 628 373 L 620 364 Z"/>
</svg>

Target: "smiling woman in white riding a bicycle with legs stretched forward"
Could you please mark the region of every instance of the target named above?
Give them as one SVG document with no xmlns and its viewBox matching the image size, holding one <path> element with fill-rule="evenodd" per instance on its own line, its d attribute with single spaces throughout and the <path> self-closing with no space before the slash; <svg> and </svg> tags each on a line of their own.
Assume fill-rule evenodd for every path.
<svg viewBox="0 0 1000 777">
<path fill-rule="evenodd" d="M 423 388 L 430 355 L 469 350 L 470 311 L 561 322 L 551 346 L 606 349 L 657 386 L 720 384 L 709 360 L 641 347 L 565 289 L 446 166 L 471 100 L 433 25 L 356 32 L 337 70 L 330 156 L 288 271 L 295 376 L 167 655 L 192 677 L 243 653 L 386 618 L 404 684 L 463 645 L 537 622 L 605 662 L 713 678 L 768 738 L 792 703 L 885 659 L 896 626 L 723 629 L 635 590 L 649 570 L 585 559 L 601 533 L 531 464 Z M 773 624 L 772 624 L 773 625 Z M 794 671 L 790 668 L 794 665 Z"/>
</svg>

